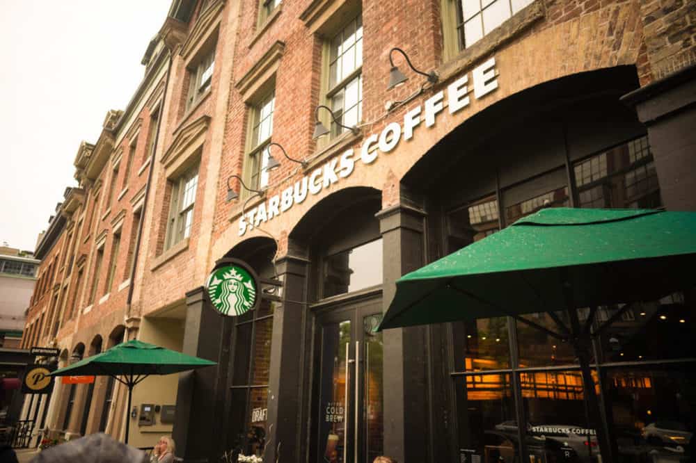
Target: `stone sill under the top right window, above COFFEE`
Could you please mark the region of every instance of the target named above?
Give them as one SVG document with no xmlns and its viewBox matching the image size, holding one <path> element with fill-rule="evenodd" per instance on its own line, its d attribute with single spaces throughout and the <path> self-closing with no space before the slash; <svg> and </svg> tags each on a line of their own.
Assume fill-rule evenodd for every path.
<svg viewBox="0 0 696 463">
<path fill-rule="evenodd" d="M 509 40 L 523 33 L 544 16 L 544 5 L 541 1 L 537 0 L 531 5 L 526 6 L 519 13 L 501 24 L 500 27 L 494 29 L 491 33 L 485 35 L 481 40 L 470 47 L 459 51 L 452 59 L 438 67 L 436 72 L 440 77 L 440 81 L 447 81 L 450 77 L 471 67 L 478 60 L 484 58 L 484 56 L 497 51 L 500 47 L 507 44 Z"/>
</svg>

